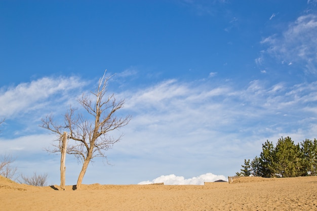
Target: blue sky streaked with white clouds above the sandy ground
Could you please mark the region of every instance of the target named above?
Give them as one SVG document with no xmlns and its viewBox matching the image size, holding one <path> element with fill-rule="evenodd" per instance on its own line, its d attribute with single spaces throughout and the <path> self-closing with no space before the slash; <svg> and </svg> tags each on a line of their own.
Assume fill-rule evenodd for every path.
<svg viewBox="0 0 317 211">
<path fill-rule="evenodd" d="M 317 1 L 0 1 L 0 28 L 0 154 L 50 184 L 40 120 L 105 69 L 133 119 L 85 184 L 226 178 L 266 140 L 317 138 Z M 67 156 L 66 184 L 80 168 Z"/>
</svg>

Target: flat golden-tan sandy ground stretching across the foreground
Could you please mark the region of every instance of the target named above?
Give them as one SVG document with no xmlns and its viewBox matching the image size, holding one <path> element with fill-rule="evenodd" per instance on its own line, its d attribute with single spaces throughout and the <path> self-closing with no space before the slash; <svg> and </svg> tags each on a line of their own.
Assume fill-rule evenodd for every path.
<svg viewBox="0 0 317 211">
<path fill-rule="evenodd" d="M 207 185 L 33 187 L 0 177 L 0 210 L 317 210 L 317 177 Z"/>
</svg>

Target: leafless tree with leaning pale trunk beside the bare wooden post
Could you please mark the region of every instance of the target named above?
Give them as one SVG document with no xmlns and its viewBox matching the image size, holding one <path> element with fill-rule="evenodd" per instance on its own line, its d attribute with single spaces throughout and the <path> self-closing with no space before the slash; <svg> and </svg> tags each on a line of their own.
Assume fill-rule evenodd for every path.
<svg viewBox="0 0 317 211">
<path fill-rule="evenodd" d="M 94 157 L 106 158 L 105 152 L 118 142 L 122 136 L 113 138 L 109 132 L 120 129 L 127 125 L 131 116 L 116 117 L 114 114 L 123 108 L 125 101 L 117 101 L 114 94 L 106 96 L 108 80 L 111 77 L 105 76 L 99 79 L 95 92 L 91 92 L 94 100 L 90 96 L 83 94 L 78 102 L 88 112 L 90 118 L 85 118 L 82 113 L 69 108 L 64 114 L 64 122 L 56 123 L 52 115 L 42 119 L 42 128 L 48 129 L 62 137 L 66 130 L 68 135 L 67 153 L 74 155 L 83 162 L 82 170 L 78 176 L 76 189 L 80 189 L 87 167 Z M 54 145 L 55 153 L 61 151 L 61 138 L 59 144 Z"/>
</svg>

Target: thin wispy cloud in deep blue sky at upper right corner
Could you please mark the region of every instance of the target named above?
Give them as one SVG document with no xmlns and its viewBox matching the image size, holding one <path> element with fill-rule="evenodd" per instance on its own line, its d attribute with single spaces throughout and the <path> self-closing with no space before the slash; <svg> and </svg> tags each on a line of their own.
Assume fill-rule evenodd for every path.
<svg viewBox="0 0 317 211">
<path fill-rule="evenodd" d="M 300 16 L 290 23 L 286 31 L 261 40 L 268 48 L 256 59 L 261 64 L 266 55 L 288 65 L 304 66 L 310 73 L 317 73 L 317 16 L 313 14 Z"/>
</svg>

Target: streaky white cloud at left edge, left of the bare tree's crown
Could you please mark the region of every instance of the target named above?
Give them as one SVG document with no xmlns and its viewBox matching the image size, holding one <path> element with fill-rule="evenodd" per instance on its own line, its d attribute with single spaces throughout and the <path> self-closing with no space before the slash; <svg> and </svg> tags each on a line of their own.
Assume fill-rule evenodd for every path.
<svg viewBox="0 0 317 211">
<path fill-rule="evenodd" d="M 86 82 L 76 77 L 44 77 L 0 90 L 0 116 L 7 119 L 54 105 L 68 104 L 78 97 Z M 73 96 L 75 91 L 75 96 Z M 78 92 L 79 91 L 79 92 Z M 53 104 L 51 104 L 53 105 Z M 53 107 L 51 107 L 53 109 Z"/>
</svg>

